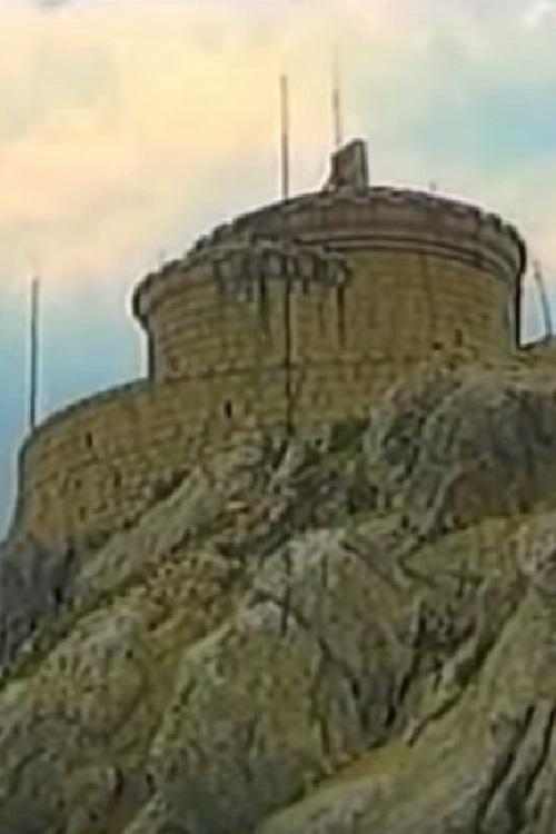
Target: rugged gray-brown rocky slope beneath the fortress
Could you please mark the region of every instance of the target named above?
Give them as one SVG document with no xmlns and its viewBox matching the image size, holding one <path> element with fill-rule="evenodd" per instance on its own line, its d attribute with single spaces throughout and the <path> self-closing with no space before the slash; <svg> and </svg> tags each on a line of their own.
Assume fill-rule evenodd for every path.
<svg viewBox="0 0 556 834">
<path fill-rule="evenodd" d="M 555 832 L 555 395 L 438 368 L 6 543 L 0 834 Z"/>
</svg>

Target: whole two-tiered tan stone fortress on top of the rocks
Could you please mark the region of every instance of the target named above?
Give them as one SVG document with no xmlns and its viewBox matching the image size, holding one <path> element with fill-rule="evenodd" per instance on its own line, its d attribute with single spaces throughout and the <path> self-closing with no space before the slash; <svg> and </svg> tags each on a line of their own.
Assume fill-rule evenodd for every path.
<svg viewBox="0 0 556 834">
<path fill-rule="evenodd" d="M 11 535 L 52 545 L 110 534 L 207 449 L 367 415 L 435 357 L 520 361 L 525 265 L 512 226 L 370 187 L 365 145 L 350 143 L 324 190 L 239 217 L 142 280 L 147 378 L 27 439 Z"/>
</svg>

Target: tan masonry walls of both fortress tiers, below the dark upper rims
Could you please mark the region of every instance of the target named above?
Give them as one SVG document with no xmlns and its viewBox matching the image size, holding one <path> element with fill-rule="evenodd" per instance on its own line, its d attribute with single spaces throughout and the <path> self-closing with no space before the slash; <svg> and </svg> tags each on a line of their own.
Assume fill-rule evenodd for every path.
<svg viewBox="0 0 556 834">
<path fill-rule="evenodd" d="M 22 453 L 20 530 L 47 540 L 112 530 L 230 434 L 364 415 L 435 351 L 494 358 L 507 347 L 507 287 L 480 269 L 388 254 L 353 266 L 345 287 L 291 287 L 288 374 L 284 282 L 268 281 L 264 315 L 256 291 L 222 299 L 211 280 L 165 299 L 155 359 L 165 378 L 38 430 Z"/>
</svg>

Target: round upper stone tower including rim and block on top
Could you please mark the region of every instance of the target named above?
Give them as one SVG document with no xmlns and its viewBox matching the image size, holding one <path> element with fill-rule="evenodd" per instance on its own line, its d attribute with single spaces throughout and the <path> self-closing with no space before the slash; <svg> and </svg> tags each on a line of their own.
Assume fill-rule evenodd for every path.
<svg viewBox="0 0 556 834">
<path fill-rule="evenodd" d="M 135 294 L 155 379 L 290 361 L 494 359 L 519 340 L 525 246 L 496 215 L 369 187 L 365 145 L 320 192 L 245 215 Z"/>
</svg>

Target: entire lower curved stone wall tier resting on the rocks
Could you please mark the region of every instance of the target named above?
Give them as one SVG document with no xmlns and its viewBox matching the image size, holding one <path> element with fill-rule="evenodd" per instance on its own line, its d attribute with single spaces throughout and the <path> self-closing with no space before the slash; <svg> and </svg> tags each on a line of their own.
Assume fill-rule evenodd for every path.
<svg viewBox="0 0 556 834">
<path fill-rule="evenodd" d="M 406 370 L 328 356 L 257 376 L 138 383 L 78 403 L 23 446 L 11 536 L 56 547 L 111 535 L 160 499 L 205 453 L 258 430 L 279 437 L 289 420 L 310 433 L 334 419 L 363 416 Z"/>
</svg>

